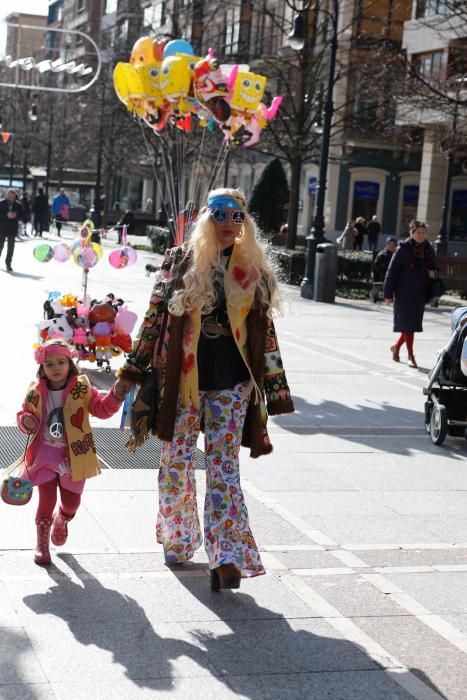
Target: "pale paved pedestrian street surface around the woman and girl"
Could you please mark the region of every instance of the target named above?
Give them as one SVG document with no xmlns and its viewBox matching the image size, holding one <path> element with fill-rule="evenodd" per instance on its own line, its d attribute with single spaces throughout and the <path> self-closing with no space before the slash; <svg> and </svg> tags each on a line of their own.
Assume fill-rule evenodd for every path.
<svg viewBox="0 0 467 700">
<path fill-rule="evenodd" d="M 47 292 L 81 290 L 80 268 L 36 262 L 37 243 L 16 244 L 13 274 L 0 261 L 2 467 L 19 456 L 11 426 Z M 121 296 L 141 319 L 144 266 L 161 258 L 140 252 L 115 270 L 112 245 L 88 291 Z M 296 413 L 270 420 L 272 455 L 241 454 L 267 575 L 212 593 L 202 549 L 168 569 L 154 533 L 155 441 L 125 456 L 120 416 L 94 420 L 107 468 L 87 483 L 52 567 L 33 563 L 37 495 L 23 508 L 0 503 L 2 700 L 465 700 L 467 442 L 435 447 L 423 425 L 450 312 L 427 309 L 414 370 L 405 352 L 391 359 L 391 308 L 315 303 L 298 287 L 283 297 L 276 326 Z"/>
</svg>

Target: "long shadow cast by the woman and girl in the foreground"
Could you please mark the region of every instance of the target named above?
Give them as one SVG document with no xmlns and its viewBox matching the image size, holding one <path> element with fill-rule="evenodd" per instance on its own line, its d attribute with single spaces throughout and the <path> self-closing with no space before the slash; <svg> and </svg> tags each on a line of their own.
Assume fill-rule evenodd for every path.
<svg viewBox="0 0 467 700">
<path fill-rule="evenodd" d="M 387 674 L 375 674 L 383 666 L 357 644 L 326 636 L 325 632 L 334 634 L 333 630 L 322 618 L 313 616 L 311 610 L 309 617 L 287 620 L 245 593 L 212 593 L 207 577 L 187 576 L 183 567 L 183 576 L 173 572 L 178 583 L 215 617 L 183 623 L 176 620 L 174 610 L 173 624 L 182 625 L 185 639 L 161 636 L 157 624 L 152 626 L 144 609 L 131 596 L 103 586 L 72 555 L 60 558 L 77 575 L 79 583 L 60 572 L 60 578 L 54 578 L 55 585 L 47 593 L 27 596 L 25 604 L 38 615 L 62 619 L 79 644 L 110 652 L 113 662 L 120 664 L 126 677 L 139 687 L 171 690 L 176 679 L 199 678 L 203 669 L 203 676 L 213 676 L 229 690 L 251 700 L 412 697 Z M 196 568 L 194 565 L 193 570 Z M 175 603 L 176 598 L 173 600 Z M 166 624 L 161 623 L 161 631 Z M 192 642 L 188 641 L 190 638 Z M 53 645 L 55 659 L 49 656 L 49 663 L 62 661 L 64 650 L 59 641 L 57 638 Z M 63 660 L 68 663 L 74 656 L 82 663 L 85 656 L 69 648 L 65 653 Z M 198 668 L 177 669 L 174 662 L 180 657 L 190 659 Z M 99 675 L 98 666 L 96 659 L 95 671 L 87 668 L 87 679 L 95 677 L 100 683 L 110 680 Z M 435 689 L 423 671 L 413 672 Z M 397 674 L 401 673 L 406 671 L 397 668 Z M 69 683 L 79 680 L 74 675 L 70 669 Z M 115 672 L 111 680 L 117 680 Z"/>
</svg>

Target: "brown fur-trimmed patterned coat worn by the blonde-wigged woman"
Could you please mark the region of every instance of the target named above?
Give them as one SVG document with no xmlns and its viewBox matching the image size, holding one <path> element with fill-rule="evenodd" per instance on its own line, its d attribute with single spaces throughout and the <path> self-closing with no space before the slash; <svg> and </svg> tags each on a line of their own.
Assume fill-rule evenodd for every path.
<svg viewBox="0 0 467 700">
<path fill-rule="evenodd" d="M 145 372 L 149 368 L 155 371 L 155 419 L 152 432 L 166 441 L 172 440 L 174 434 L 186 322 L 185 316 L 173 316 L 168 312 L 167 302 L 179 285 L 183 284 L 182 277 L 187 264 L 183 248 L 167 251 L 160 279 L 154 285 L 149 308 L 132 351 L 119 370 L 119 376 L 137 383 L 144 381 Z M 256 299 L 246 323 L 250 369 L 264 401 L 255 402 L 255 392 L 251 393 L 242 445 L 250 448 L 251 457 L 259 457 L 272 451 L 266 428 L 267 414 L 291 413 L 294 406 L 282 367 L 274 324 Z"/>
</svg>

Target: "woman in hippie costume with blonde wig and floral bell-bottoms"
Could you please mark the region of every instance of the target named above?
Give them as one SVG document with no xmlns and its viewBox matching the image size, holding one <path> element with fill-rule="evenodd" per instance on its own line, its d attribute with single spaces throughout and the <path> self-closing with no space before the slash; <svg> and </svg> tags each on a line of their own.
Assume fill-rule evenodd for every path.
<svg viewBox="0 0 467 700">
<path fill-rule="evenodd" d="M 143 324 L 119 376 L 142 384 L 133 406 L 135 449 L 164 441 L 157 540 L 180 564 L 202 543 L 195 451 L 204 431 L 205 548 L 211 588 L 264 573 L 240 484 L 240 445 L 272 451 L 267 413 L 293 403 L 272 321 L 278 289 L 243 195 L 209 194 L 190 239 L 167 251 Z M 267 406 L 267 410 L 266 410 Z"/>
</svg>

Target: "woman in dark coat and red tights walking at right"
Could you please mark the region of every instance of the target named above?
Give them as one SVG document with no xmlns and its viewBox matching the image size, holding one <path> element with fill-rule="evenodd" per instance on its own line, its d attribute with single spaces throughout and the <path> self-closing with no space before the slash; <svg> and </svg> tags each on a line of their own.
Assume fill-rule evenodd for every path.
<svg viewBox="0 0 467 700">
<path fill-rule="evenodd" d="M 407 345 L 409 367 L 417 367 L 413 354 L 414 333 L 423 332 L 423 314 L 429 297 L 431 280 L 435 276 L 435 252 L 426 240 L 426 224 L 413 220 L 410 237 L 399 243 L 392 256 L 384 280 L 387 304 L 394 300 L 394 332 L 400 333 L 391 346 L 392 359 L 399 362 L 399 351 Z"/>
</svg>

